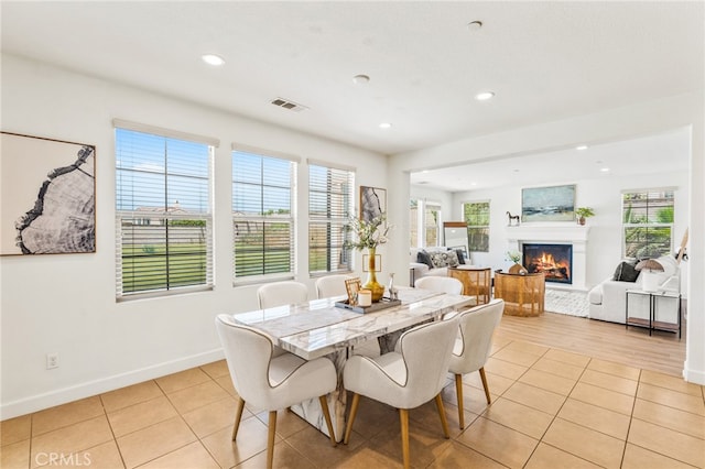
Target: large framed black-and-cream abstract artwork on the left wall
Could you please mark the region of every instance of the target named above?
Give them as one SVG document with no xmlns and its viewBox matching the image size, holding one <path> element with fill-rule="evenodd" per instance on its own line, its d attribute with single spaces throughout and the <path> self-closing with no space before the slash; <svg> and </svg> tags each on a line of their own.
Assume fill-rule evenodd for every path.
<svg viewBox="0 0 705 469">
<path fill-rule="evenodd" d="M 0 132 L 0 255 L 96 252 L 96 148 Z"/>
</svg>

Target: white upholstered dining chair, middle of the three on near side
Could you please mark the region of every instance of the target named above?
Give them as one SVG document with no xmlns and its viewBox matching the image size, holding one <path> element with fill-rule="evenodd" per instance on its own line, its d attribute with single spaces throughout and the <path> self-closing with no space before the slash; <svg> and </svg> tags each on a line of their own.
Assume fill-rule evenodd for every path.
<svg viewBox="0 0 705 469">
<path fill-rule="evenodd" d="M 399 338 L 394 351 L 380 357 L 352 356 L 345 363 L 343 382 L 352 402 L 344 443 L 352 432 L 360 395 L 399 410 L 404 468 L 409 468 L 409 410 L 435 397 L 443 433 L 449 438 L 441 390 L 446 383 L 458 316 L 416 326 Z"/>
</svg>

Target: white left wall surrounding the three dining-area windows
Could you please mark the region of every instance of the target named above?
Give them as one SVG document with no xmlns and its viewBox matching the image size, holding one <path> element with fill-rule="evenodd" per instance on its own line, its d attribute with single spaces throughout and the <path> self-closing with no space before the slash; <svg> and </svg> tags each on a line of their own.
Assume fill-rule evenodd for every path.
<svg viewBox="0 0 705 469">
<path fill-rule="evenodd" d="M 221 358 L 215 315 L 257 307 L 257 285 L 231 283 L 231 142 L 302 157 L 297 280 L 310 292 L 306 159 L 356 166 L 358 186 L 387 186 L 379 154 L 19 57 L 2 56 L 1 86 L 3 131 L 90 143 L 97 153 L 97 252 L 0 259 L 1 418 Z M 220 139 L 215 291 L 116 303 L 113 118 Z M 59 368 L 45 369 L 48 352 Z"/>
</svg>

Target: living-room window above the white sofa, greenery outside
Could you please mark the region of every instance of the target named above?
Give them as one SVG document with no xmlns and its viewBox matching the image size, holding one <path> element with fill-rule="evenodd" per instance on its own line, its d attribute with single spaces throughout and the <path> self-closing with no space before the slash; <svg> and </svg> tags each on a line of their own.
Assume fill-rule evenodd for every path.
<svg viewBox="0 0 705 469">
<path fill-rule="evenodd" d="M 672 251 L 673 190 L 622 193 L 623 255 L 654 258 Z"/>
</svg>

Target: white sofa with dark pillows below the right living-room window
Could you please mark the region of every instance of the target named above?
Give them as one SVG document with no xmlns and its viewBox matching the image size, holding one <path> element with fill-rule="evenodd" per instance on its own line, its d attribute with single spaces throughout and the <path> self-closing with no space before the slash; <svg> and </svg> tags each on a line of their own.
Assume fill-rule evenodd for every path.
<svg viewBox="0 0 705 469">
<path fill-rule="evenodd" d="M 625 324 L 627 308 L 627 290 L 644 290 L 644 279 L 647 279 L 647 290 L 669 290 L 680 291 L 679 265 L 671 255 L 657 259 L 663 265 L 663 272 L 640 272 L 636 282 L 623 282 L 609 277 L 597 284 L 587 295 L 589 302 L 588 317 L 590 319 L 607 320 L 610 323 Z M 653 287 L 652 285 L 655 285 Z M 631 315 L 649 317 L 648 296 L 630 295 L 629 310 Z M 634 313 L 636 312 L 636 313 Z M 675 312 L 672 318 L 664 318 L 668 321 L 676 321 Z"/>
</svg>

